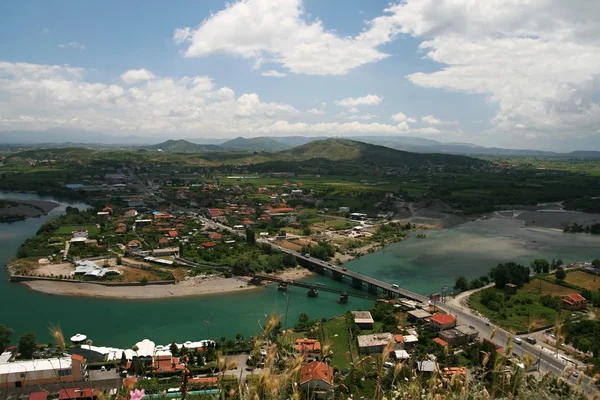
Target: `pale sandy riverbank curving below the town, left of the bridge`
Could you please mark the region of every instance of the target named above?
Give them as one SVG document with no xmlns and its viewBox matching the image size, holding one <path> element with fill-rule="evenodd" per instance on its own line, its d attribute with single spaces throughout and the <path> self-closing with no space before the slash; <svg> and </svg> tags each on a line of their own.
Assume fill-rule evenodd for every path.
<svg viewBox="0 0 600 400">
<path fill-rule="evenodd" d="M 273 275 L 281 279 L 298 280 L 307 278 L 313 273 L 305 268 L 298 267 Z M 22 282 L 22 284 L 32 290 L 52 295 L 127 300 L 191 297 L 260 289 L 260 286 L 250 285 L 247 278 L 223 278 L 219 276 L 191 277 L 173 285 L 104 286 L 94 283 L 48 280 L 27 281 Z"/>
</svg>

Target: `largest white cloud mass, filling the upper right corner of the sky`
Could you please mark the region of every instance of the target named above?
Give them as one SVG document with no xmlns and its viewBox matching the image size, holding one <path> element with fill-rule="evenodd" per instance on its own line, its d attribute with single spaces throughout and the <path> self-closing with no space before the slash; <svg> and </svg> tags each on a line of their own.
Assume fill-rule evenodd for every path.
<svg viewBox="0 0 600 400">
<path fill-rule="evenodd" d="M 600 124 L 600 7 L 590 0 L 404 0 L 371 21 L 375 42 L 420 38 L 442 65 L 408 75 L 415 85 L 485 96 L 492 126 L 564 137 Z M 519 137 L 523 133 L 516 133 Z"/>
</svg>

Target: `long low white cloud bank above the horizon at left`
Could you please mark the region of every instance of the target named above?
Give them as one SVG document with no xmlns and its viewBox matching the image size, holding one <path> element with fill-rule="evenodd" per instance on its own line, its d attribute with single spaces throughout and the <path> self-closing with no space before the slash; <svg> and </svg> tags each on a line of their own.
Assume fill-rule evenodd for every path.
<svg viewBox="0 0 600 400">
<path fill-rule="evenodd" d="M 327 105 L 321 103 L 320 108 L 304 113 L 290 104 L 264 101 L 257 93 L 236 94 L 208 76 L 154 76 L 119 85 L 88 81 L 88 75 L 95 76 L 68 65 L 0 62 L 0 131 L 64 127 L 166 137 L 190 137 L 198 132 L 215 136 L 434 132 L 433 128 L 411 130 L 407 121 L 397 125 L 369 122 L 377 118 L 371 114 L 307 123 L 303 117 L 322 116 Z"/>
</svg>

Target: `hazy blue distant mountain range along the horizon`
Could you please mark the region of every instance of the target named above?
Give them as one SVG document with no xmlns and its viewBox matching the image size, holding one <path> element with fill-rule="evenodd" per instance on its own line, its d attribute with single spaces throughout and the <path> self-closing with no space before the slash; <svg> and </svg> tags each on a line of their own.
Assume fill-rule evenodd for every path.
<svg viewBox="0 0 600 400">
<path fill-rule="evenodd" d="M 160 142 L 157 137 L 135 135 L 112 136 L 104 133 L 73 129 L 49 129 L 46 131 L 4 131 L 0 132 L 0 144 L 22 146 L 61 147 L 86 145 L 90 147 L 133 147 L 167 152 L 205 152 L 205 151 L 250 151 L 275 152 L 291 149 L 321 137 L 280 136 L 235 139 L 195 138 L 167 140 Z M 445 153 L 464 155 L 505 155 L 505 156 L 567 156 L 579 158 L 600 158 L 600 151 L 552 152 L 542 150 L 516 150 L 497 147 L 484 147 L 471 143 L 443 143 L 433 139 L 410 136 L 353 136 L 349 139 L 416 153 Z M 578 145 L 577 143 L 581 143 Z M 584 139 L 564 140 L 564 148 L 600 148 L 600 135 Z"/>
</svg>

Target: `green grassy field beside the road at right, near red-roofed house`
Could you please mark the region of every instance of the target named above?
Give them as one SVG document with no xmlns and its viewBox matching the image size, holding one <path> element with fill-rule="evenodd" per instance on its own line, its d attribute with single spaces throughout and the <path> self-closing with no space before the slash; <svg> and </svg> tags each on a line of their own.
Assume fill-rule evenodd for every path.
<svg viewBox="0 0 600 400">
<path fill-rule="evenodd" d="M 541 291 L 540 291 L 541 288 Z M 481 298 L 486 291 L 496 291 L 501 299 L 498 311 L 492 311 L 481 304 Z M 544 295 L 563 296 L 573 293 L 573 289 L 553 284 L 543 280 L 533 280 L 519 289 L 516 294 L 508 295 L 503 290 L 489 288 L 471 295 L 471 308 L 488 317 L 492 322 L 513 332 L 527 332 L 550 325 L 568 315 L 543 306 L 539 299 Z"/>
</svg>

